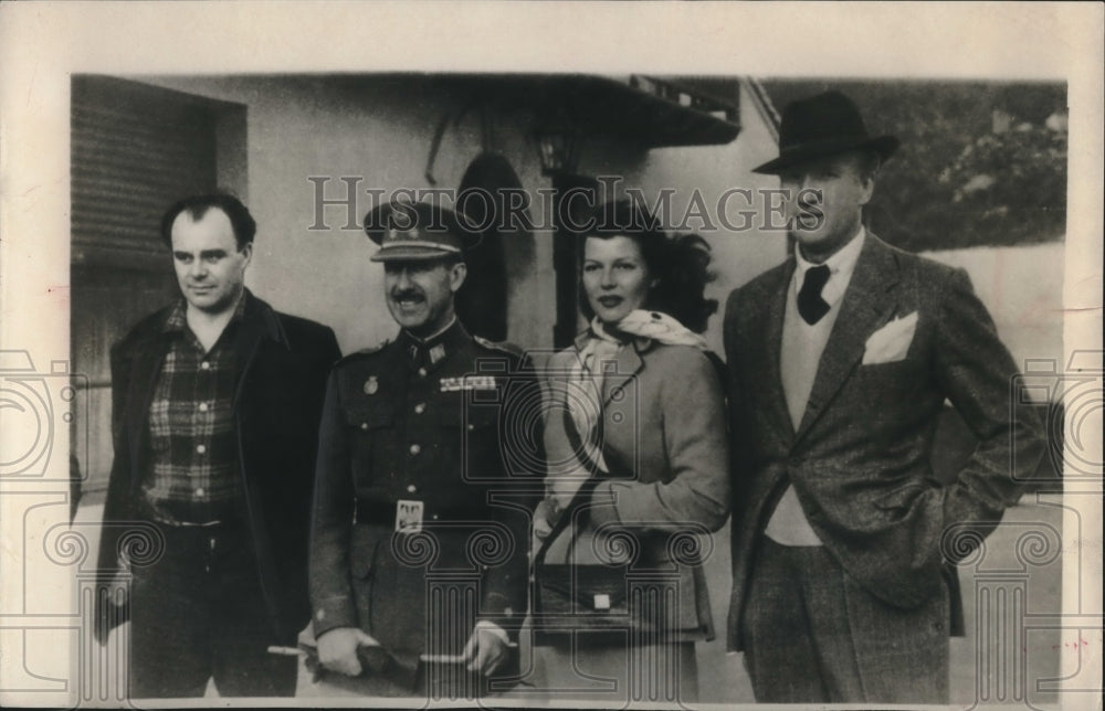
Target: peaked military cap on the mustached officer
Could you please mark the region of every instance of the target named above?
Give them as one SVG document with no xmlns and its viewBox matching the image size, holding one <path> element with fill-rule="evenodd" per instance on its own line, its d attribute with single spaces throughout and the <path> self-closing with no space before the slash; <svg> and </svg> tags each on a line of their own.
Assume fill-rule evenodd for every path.
<svg viewBox="0 0 1105 711">
<path fill-rule="evenodd" d="M 464 253 L 480 243 L 480 233 L 459 212 L 429 202 L 392 201 L 365 215 L 368 238 L 380 245 L 372 262 L 438 259 Z"/>
</svg>

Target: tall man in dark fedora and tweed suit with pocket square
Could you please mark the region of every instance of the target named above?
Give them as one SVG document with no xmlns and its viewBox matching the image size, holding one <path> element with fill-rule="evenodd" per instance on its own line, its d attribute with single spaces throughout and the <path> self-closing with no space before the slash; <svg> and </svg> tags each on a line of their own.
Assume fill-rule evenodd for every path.
<svg viewBox="0 0 1105 711">
<path fill-rule="evenodd" d="M 966 273 L 861 221 L 897 145 L 825 93 L 786 108 L 779 157 L 756 168 L 793 217 L 792 254 L 725 312 L 728 644 L 760 702 L 947 703 L 950 563 L 967 553 L 949 537 L 988 534 L 1043 452 L 1038 423 L 1011 413 L 1017 367 Z M 945 401 L 978 437 L 948 485 L 929 465 Z"/>
</svg>

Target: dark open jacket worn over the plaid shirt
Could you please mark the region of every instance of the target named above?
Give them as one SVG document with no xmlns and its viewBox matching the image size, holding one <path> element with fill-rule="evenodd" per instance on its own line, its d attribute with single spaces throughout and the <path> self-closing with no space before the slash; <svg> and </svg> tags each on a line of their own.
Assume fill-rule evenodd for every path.
<svg viewBox="0 0 1105 711">
<path fill-rule="evenodd" d="M 234 349 L 234 432 L 242 481 L 241 518 L 253 538 L 274 638 L 294 640 L 311 615 L 307 541 L 315 450 L 326 376 L 340 358 L 328 327 L 275 311 L 245 291 Z M 104 505 L 99 580 L 108 584 L 120 548 L 134 532 L 148 468 L 149 407 L 169 341 L 169 308 L 135 326 L 112 348 L 112 431 L 115 458 Z M 166 551 L 171 555 L 172 551 Z M 123 622 L 97 597 L 97 635 Z"/>
</svg>

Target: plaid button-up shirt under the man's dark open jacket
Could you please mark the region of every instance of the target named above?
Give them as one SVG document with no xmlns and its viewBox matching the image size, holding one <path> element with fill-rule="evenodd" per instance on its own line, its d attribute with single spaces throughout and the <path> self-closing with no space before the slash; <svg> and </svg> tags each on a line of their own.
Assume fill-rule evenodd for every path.
<svg viewBox="0 0 1105 711">
<path fill-rule="evenodd" d="M 150 469 L 143 490 L 155 519 L 209 523 L 232 516 L 242 496 L 232 340 L 245 299 L 210 351 L 188 328 L 185 308 L 180 300 L 162 327 L 172 342 L 150 403 Z"/>
</svg>

